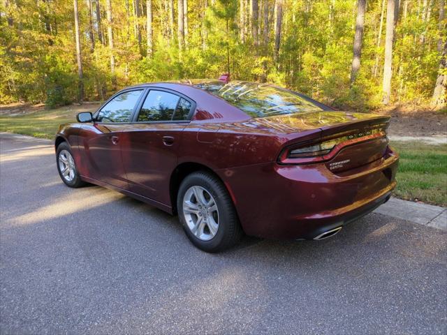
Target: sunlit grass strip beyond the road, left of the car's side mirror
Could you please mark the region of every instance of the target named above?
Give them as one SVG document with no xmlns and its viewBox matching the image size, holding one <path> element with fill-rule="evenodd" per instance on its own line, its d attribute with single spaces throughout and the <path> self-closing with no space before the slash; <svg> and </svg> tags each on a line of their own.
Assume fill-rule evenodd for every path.
<svg viewBox="0 0 447 335">
<path fill-rule="evenodd" d="M 98 105 L 70 105 L 29 114 L 0 116 L 0 131 L 53 139 L 60 124 L 76 121 L 79 112 L 93 112 Z"/>
</svg>

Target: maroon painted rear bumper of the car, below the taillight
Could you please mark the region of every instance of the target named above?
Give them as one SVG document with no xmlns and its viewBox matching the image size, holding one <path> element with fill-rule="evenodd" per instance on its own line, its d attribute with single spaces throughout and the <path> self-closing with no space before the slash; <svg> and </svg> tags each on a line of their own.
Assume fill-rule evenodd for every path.
<svg viewBox="0 0 447 335">
<path fill-rule="evenodd" d="M 271 239 L 314 239 L 368 214 L 390 198 L 399 158 L 390 153 L 349 174 L 323 164 L 268 163 L 221 171 L 242 228 Z"/>
</svg>

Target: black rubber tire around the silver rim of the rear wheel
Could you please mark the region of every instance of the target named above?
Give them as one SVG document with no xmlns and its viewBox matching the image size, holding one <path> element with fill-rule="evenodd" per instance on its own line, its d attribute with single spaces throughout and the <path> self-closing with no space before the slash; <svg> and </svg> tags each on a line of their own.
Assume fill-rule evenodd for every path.
<svg viewBox="0 0 447 335">
<path fill-rule="evenodd" d="M 219 211 L 219 228 L 214 237 L 208 241 L 203 241 L 196 237 L 186 224 L 183 200 L 186 191 L 192 186 L 200 186 L 210 193 Z M 207 253 L 217 253 L 226 250 L 236 244 L 242 237 L 242 228 L 226 187 L 217 177 L 209 172 L 193 172 L 182 181 L 177 193 L 177 212 L 186 236 L 194 246 Z"/>
</svg>

